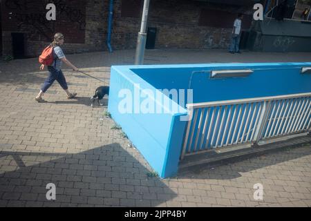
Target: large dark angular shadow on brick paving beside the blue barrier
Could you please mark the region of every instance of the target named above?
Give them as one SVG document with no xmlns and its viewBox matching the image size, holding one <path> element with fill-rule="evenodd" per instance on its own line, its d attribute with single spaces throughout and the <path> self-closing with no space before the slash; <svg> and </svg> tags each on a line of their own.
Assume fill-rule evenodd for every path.
<svg viewBox="0 0 311 221">
<path fill-rule="evenodd" d="M 130 152 L 117 143 L 76 154 L 0 152 L 17 166 L 0 168 L 0 205 L 157 206 L 175 198 Z M 46 199 L 48 183 L 56 200 Z"/>
</svg>

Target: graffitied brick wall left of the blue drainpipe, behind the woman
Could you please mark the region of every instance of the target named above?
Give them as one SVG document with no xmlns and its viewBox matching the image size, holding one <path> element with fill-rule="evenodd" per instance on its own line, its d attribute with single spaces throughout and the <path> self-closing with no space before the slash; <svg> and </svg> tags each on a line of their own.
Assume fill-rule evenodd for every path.
<svg viewBox="0 0 311 221">
<path fill-rule="evenodd" d="M 56 21 L 46 20 L 46 5 L 54 2 Z M 25 37 L 26 57 L 37 56 L 55 32 L 65 36 L 66 53 L 106 50 L 106 17 L 99 0 L 4 0 L 1 1 L 3 55 L 12 55 L 12 32 Z"/>
</svg>

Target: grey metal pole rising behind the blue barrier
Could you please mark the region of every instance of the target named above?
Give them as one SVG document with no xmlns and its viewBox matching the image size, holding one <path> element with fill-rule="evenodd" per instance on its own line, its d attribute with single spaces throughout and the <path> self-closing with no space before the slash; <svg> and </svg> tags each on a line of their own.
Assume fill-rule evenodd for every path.
<svg viewBox="0 0 311 221">
<path fill-rule="evenodd" d="M 136 46 L 136 55 L 135 55 L 135 64 L 144 64 L 144 48 L 146 46 L 146 27 L 148 19 L 148 9 L 149 1 L 144 0 L 144 10 L 142 11 L 142 25 L 140 26 L 140 32 L 138 32 L 137 46 Z"/>
</svg>

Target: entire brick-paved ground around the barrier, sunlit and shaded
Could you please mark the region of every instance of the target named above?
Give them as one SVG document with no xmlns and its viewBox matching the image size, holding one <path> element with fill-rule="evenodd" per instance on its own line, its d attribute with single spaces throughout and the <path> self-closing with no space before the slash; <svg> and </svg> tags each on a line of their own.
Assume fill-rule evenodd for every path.
<svg viewBox="0 0 311 221">
<path fill-rule="evenodd" d="M 134 50 L 68 59 L 108 85 L 110 66 L 133 64 Z M 310 53 L 149 50 L 145 64 L 310 59 Z M 0 206 L 311 206 L 310 144 L 160 180 L 148 176 L 149 164 L 122 131 L 111 129 L 106 108 L 89 106 L 100 82 L 64 67 L 77 99 L 66 99 L 55 82 L 44 96 L 48 104 L 37 104 L 47 76 L 37 59 L 0 62 Z M 57 186 L 52 202 L 50 182 Z M 263 200 L 253 198 L 256 183 L 263 184 Z"/>
</svg>

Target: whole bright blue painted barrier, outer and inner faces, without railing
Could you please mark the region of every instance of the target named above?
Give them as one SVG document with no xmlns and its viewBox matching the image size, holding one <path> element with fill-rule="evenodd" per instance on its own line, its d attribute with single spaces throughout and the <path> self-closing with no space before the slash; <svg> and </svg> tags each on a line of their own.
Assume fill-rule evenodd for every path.
<svg viewBox="0 0 311 221">
<path fill-rule="evenodd" d="M 193 89 L 193 103 L 199 103 L 308 93 L 311 75 L 301 74 L 301 68 L 308 66 L 311 63 L 112 66 L 109 112 L 160 177 L 169 177 L 178 171 L 187 124 L 182 117 L 187 110 L 181 106 L 171 110 L 162 99 L 150 94 L 157 95 L 162 89 Z M 211 70 L 236 69 L 254 73 L 248 77 L 210 78 Z M 124 105 L 125 98 L 131 98 L 131 105 Z M 160 113 L 140 110 L 147 98 Z M 187 98 L 186 94 L 186 104 Z M 122 113 L 125 106 L 131 111 Z"/>
</svg>

